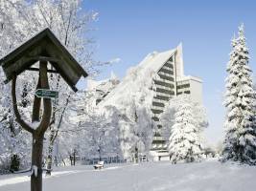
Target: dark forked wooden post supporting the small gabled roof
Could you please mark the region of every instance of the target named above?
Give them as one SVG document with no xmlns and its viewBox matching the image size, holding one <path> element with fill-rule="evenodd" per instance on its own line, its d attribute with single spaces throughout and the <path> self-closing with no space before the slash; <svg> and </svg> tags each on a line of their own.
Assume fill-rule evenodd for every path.
<svg viewBox="0 0 256 191">
<path fill-rule="evenodd" d="M 39 63 L 39 78 L 37 87 L 49 89 L 47 76 L 47 61 Z M 30 132 L 33 137 L 32 146 L 32 175 L 31 175 L 31 191 L 42 191 L 42 151 L 44 133 L 49 127 L 52 116 L 52 102 L 50 98 L 43 98 L 43 115 L 40 117 L 41 98 L 35 97 L 33 106 L 32 122 L 39 122 L 35 128 L 27 124 L 21 117 L 17 108 L 16 101 L 16 75 L 12 80 L 12 104 L 17 122 L 23 129 Z"/>
</svg>

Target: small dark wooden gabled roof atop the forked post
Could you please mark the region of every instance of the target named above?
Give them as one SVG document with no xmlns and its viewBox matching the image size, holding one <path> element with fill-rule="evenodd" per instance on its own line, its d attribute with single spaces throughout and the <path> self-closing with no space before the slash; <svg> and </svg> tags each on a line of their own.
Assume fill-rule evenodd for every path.
<svg viewBox="0 0 256 191">
<path fill-rule="evenodd" d="M 49 61 L 75 92 L 81 76 L 88 75 L 55 34 L 47 28 L 0 59 L 0 65 L 7 77 L 5 82 L 10 82 L 15 74 L 29 70 L 40 60 Z"/>
</svg>

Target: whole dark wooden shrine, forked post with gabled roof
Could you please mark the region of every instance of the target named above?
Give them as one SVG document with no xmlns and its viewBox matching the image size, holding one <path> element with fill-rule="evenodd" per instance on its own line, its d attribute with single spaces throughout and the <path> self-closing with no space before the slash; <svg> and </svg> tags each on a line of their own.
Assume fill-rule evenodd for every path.
<svg viewBox="0 0 256 191">
<path fill-rule="evenodd" d="M 33 67 L 38 62 L 39 67 Z M 53 66 L 51 70 L 47 67 L 48 64 Z M 37 33 L 12 53 L 1 58 L 0 65 L 6 74 L 5 83 L 12 81 L 12 105 L 16 120 L 33 137 L 31 190 L 41 191 L 43 138 L 51 122 L 52 101 L 49 97 L 35 96 L 31 122 L 38 126 L 32 127 L 29 122 L 22 119 L 18 111 L 15 91 L 17 77 L 28 70 L 38 71 L 36 89 L 50 90 L 47 73 L 57 73 L 73 91 L 77 92 L 76 84 L 81 76 L 86 77 L 88 74 L 49 29 Z M 43 104 L 41 104 L 41 99 L 43 99 Z M 40 114 L 41 106 L 43 106 L 42 114 Z"/>
</svg>

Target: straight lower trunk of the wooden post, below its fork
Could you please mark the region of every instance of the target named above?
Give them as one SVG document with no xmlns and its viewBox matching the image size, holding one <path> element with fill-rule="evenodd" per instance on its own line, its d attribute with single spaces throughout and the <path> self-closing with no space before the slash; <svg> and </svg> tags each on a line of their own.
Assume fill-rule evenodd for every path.
<svg viewBox="0 0 256 191">
<path fill-rule="evenodd" d="M 43 136 L 33 135 L 31 190 L 42 191 Z"/>
</svg>

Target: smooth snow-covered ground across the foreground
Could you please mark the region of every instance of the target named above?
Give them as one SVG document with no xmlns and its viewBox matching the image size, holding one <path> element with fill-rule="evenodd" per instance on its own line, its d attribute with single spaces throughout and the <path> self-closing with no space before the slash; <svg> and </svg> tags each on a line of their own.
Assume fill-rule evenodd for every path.
<svg viewBox="0 0 256 191">
<path fill-rule="evenodd" d="M 256 190 L 256 167 L 224 163 L 217 160 L 200 163 L 171 164 L 145 162 L 105 166 L 58 169 L 43 180 L 47 191 L 250 191 Z M 25 175 L 0 176 L 0 191 L 28 191 Z"/>
</svg>

